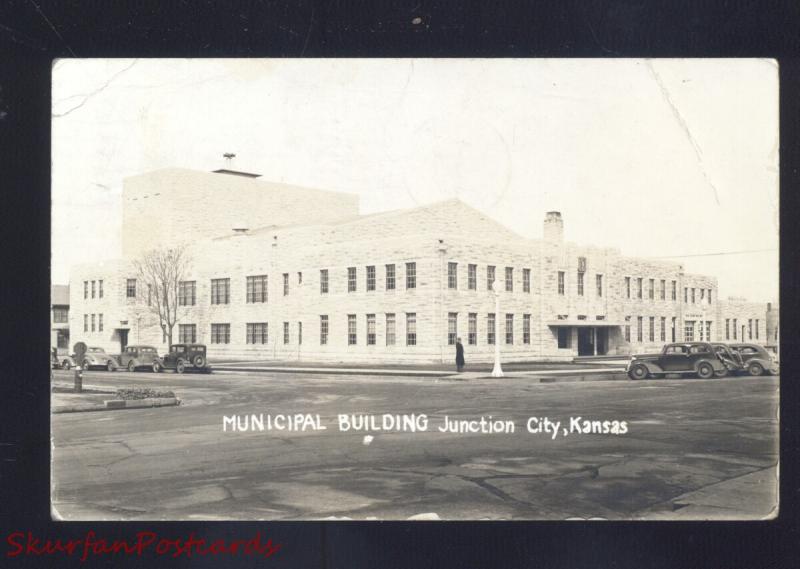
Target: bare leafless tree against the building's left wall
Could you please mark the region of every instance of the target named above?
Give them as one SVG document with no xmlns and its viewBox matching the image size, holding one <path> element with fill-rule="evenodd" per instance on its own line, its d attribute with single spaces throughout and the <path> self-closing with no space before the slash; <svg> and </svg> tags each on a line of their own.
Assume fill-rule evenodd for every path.
<svg viewBox="0 0 800 569">
<path fill-rule="evenodd" d="M 147 305 L 158 316 L 167 344 L 172 347 L 172 329 L 178 322 L 178 289 L 185 280 L 189 256 L 183 246 L 153 249 L 134 261 L 139 279 L 147 285 Z"/>
</svg>

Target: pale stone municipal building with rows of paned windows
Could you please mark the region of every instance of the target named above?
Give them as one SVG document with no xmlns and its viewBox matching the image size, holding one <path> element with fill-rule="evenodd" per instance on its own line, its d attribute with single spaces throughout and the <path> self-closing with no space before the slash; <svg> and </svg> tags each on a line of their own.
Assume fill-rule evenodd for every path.
<svg viewBox="0 0 800 569">
<path fill-rule="evenodd" d="M 148 219 L 134 205 L 145 194 L 161 200 Z M 720 301 L 713 277 L 565 242 L 558 212 L 526 239 L 458 200 L 359 216 L 349 194 L 184 170 L 129 179 L 124 198 L 124 258 L 70 276 L 75 341 L 110 352 L 167 349 L 133 261 L 180 242 L 192 262 L 173 341 L 207 344 L 212 359 L 441 362 L 460 337 L 472 362 L 491 361 L 495 342 L 505 361 L 563 360 L 722 340 L 732 318 L 766 325 L 756 305 Z"/>
</svg>

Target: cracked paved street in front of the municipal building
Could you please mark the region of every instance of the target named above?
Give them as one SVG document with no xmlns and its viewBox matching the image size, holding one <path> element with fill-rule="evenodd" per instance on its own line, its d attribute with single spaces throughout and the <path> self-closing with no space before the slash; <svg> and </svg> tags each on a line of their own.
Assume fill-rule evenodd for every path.
<svg viewBox="0 0 800 569">
<path fill-rule="evenodd" d="M 54 372 L 69 382 L 68 372 Z M 52 416 L 63 519 L 761 518 L 772 511 L 778 378 L 547 382 L 293 373 L 86 372 L 172 389 L 180 407 Z M 238 414 L 319 414 L 325 431 L 223 432 Z M 338 414 L 427 414 L 427 432 L 340 432 Z M 441 433 L 443 418 L 513 434 Z M 531 434 L 529 417 L 625 421 Z M 365 444 L 364 435 L 374 437 Z"/>
</svg>

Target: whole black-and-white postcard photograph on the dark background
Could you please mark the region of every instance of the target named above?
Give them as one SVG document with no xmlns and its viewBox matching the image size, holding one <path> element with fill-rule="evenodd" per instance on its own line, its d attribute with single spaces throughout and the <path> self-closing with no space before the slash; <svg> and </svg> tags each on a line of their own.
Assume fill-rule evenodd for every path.
<svg viewBox="0 0 800 569">
<path fill-rule="evenodd" d="M 54 61 L 52 518 L 775 519 L 778 87 Z"/>
</svg>

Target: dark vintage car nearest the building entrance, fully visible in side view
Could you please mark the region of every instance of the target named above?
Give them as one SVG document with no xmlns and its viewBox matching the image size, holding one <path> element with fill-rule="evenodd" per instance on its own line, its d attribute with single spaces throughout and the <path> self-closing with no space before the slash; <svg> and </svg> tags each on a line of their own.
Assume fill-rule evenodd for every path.
<svg viewBox="0 0 800 569">
<path fill-rule="evenodd" d="M 692 374 L 701 379 L 725 375 L 727 367 L 706 342 L 665 345 L 657 354 L 636 354 L 625 369 L 631 379 Z"/>
</svg>

